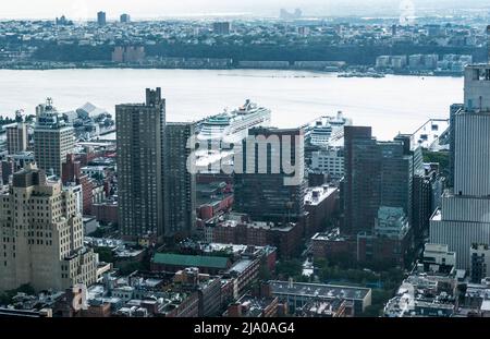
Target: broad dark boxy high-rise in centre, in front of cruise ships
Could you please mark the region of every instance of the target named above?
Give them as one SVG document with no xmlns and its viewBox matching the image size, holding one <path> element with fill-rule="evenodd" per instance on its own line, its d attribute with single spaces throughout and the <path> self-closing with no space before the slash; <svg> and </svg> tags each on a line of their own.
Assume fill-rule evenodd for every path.
<svg viewBox="0 0 490 339">
<path fill-rule="evenodd" d="M 302 129 L 250 129 L 241 156 L 243 170 L 234 175 L 237 211 L 254 220 L 278 222 L 296 221 L 305 215 L 307 180 Z M 295 167 L 294 172 L 286 170 L 287 162 Z M 287 183 L 294 177 L 298 180 Z"/>
</svg>

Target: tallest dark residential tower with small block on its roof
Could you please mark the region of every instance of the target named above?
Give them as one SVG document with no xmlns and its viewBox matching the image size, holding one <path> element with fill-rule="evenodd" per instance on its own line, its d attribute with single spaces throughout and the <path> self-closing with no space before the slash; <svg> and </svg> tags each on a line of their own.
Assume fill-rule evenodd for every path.
<svg viewBox="0 0 490 339">
<path fill-rule="evenodd" d="M 146 89 L 145 104 L 115 106 L 119 227 L 125 238 L 164 235 L 166 100 Z"/>
</svg>

